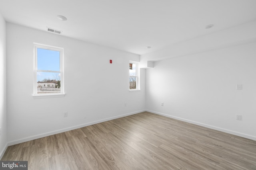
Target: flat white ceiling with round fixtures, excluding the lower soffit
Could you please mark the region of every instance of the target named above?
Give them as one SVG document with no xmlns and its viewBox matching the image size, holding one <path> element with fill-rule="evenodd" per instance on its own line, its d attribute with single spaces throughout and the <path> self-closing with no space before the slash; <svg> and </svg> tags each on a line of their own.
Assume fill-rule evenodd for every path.
<svg viewBox="0 0 256 170">
<path fill-rule="evenodd" d="M 0 13 L 7 22 L 141 55 L 255 21 L 256 0 L 0 0 Z"/>
</svg>

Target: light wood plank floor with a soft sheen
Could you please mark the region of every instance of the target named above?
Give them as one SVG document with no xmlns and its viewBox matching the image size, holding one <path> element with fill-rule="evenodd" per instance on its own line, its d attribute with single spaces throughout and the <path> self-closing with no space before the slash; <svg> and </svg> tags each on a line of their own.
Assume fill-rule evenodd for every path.
<svg viewBox="0 0 256 170">
<path fill-rule="evenodd" d="M 7 148 L 29 170 L 256 170 L 256 141 L 143 112 Z"/>
</svg>

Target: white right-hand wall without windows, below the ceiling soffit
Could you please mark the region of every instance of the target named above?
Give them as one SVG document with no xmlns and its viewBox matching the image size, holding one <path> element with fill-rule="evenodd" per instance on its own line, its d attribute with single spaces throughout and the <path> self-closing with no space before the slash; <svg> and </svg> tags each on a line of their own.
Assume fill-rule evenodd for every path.
<svg viewBox="0 0 256 170">
<path fill-rule="evenodd" d="M 146 109 L 256 140 L 255 64 L 256 43 L 154 62 L 146 70 Z"/>
</svg>

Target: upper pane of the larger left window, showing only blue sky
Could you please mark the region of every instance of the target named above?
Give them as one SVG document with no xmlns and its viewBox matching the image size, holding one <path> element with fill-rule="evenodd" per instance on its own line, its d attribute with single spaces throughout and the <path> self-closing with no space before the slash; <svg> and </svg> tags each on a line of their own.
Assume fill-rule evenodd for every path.
<svg viewBox="0 0 256 170">
<path fill-rule="evenodd" d="M 60 71 L 60 51 L 37 48 L 37 69 Z"/>
</svg>

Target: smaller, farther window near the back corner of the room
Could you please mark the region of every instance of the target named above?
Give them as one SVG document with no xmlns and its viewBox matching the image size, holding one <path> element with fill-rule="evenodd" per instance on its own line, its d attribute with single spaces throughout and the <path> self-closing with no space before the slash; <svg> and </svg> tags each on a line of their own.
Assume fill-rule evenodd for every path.
<svg viewBox="0 0 256 170">
<path fill-rule="evenodd" d="M 138 63 L 133 61 L 130 61 L 129 63 L 129 82 L 130 82 L 130 90 L 139 90 Z"/>
</svg>

